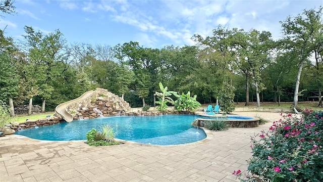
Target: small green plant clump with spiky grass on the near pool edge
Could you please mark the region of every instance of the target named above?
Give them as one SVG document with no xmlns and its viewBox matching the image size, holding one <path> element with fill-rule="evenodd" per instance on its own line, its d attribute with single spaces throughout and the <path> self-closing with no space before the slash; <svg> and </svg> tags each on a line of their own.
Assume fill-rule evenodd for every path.
<svg viewBox="0 0 323 182">
<path fill-rule="evenodd" d="M 86 133 L 86 144 L 90 146 L 111 146 L 119 145 L 120 143 L 115 141 L 117 132 L 114 132 L 114 128 L 108 124 L 100 126 L 100 131 L 97 129 L 91 129 Z"/>
</svg>

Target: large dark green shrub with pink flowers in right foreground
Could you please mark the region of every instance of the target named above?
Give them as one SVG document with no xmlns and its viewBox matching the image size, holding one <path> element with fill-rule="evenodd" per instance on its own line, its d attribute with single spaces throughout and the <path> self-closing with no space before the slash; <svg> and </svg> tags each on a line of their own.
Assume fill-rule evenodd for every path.
<svg viewBox="0 0 323 182">
<path fill-rule="evenodd" d="M 252 137 L 249 175 L 242 181 L 323 181 L 323 113 L 303 113 L 285 115 Z"/>
</svg>

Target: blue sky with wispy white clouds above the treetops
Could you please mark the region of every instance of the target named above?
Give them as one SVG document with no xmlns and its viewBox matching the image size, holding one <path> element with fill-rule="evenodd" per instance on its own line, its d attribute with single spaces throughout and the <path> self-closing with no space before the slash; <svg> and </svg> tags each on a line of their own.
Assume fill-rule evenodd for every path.
<svg viewBox="0 0 323 182">
<path fill-rule="evenodd" d="M 194 34 L 211 36 L 219 25 L 270 31 L 281 38 L 280 21 L 323 0 L 15 0 L 16 14 L 2 14 L 0 28 L 23 40 L 24 26 L 44 34 L 59 29 L 68 43 L 92 45 L 137 41 L 145 48 L 195 45 Z"/>
</svg>

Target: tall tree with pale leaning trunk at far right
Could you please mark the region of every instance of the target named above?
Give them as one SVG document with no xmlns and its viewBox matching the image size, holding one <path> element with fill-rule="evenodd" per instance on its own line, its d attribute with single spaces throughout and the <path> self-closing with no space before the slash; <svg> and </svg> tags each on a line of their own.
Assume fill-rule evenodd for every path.
<svg viewBox="0 0 323 182">
<path fill-rule="evenodd" d="M 287 17 L 283 22 L 282 28 L 285 35 L 284 44 L 286 51 L 291 50 L 298 54 L 298 73 L 296 77 L 293 106 L 297 106 L 299 84 L 303 65 L 308 61 L 308 58 L 313 54 L 315 43 L 312 39 L 319 39 L 321 34 L 321 15 L 322 7 L 318 10 L 304 10 L 302 14 L 296 17 Z"/>
</svg>

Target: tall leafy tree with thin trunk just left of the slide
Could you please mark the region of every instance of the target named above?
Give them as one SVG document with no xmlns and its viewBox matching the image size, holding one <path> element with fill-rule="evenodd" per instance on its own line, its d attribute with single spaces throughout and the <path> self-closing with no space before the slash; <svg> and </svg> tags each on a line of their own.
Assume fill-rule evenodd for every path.
<svg viewBox="0 0 323 182">
<path fill-rule="evenodd" d="M 44 112 L 46 100 L 53 91 L 52 81 L 61 74 L 53 68 L 58 62 L 67 60 L 64 52 L 66 40 L 60 30 L 44 35 L 40 31 L 35 32 L 30 26 L 25 26 L 25 32 L 29 60 L 38 68 L 35 70 L 39 75 L 36 81 L 39 87 L 38 95 L 42 99 L 41 111 Z"/>
</svg>

